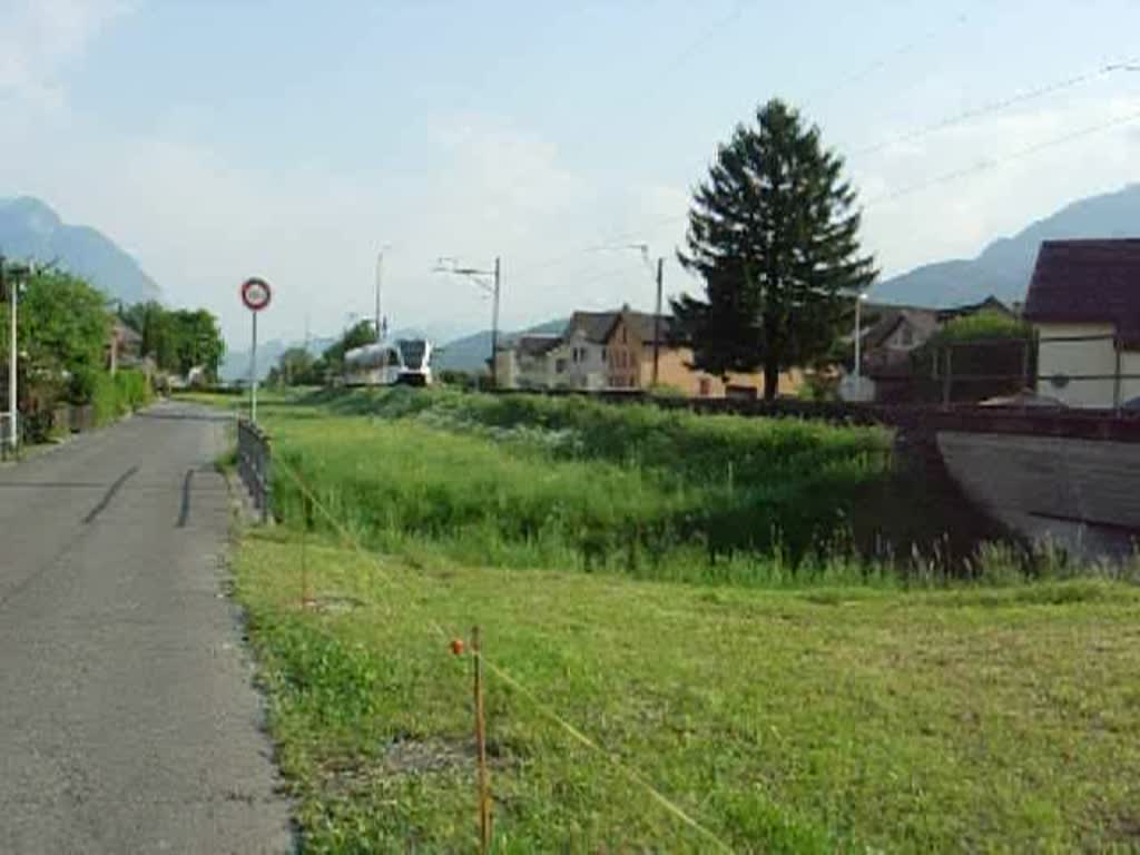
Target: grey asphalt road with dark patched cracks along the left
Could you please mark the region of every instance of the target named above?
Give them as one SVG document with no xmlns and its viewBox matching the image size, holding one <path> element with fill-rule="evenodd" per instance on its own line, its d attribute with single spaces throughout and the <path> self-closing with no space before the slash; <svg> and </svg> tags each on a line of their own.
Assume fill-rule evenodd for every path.
<svg viewBox="0 0 1140 855">
<path fill-rule="evenodd" d="M 288 852 L 220 556 L 222 420 L 0 467 L 0 852 Z"/>
</svg>

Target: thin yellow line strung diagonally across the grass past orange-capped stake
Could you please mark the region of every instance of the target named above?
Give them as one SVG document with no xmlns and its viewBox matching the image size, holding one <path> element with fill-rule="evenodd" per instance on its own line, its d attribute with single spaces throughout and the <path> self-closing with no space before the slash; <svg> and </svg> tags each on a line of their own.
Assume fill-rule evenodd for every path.
<svg viewBox="0 0 1140 855">
<path fill-rule="evenodd" d="M 351 548 L 358 556 L 366 560 L 366 562 L 374 567 L 391 587 L 401 589 L 407 594 L 408 601 L 417 608 L 423 617 L 425 618 L 425 625 L 434 632 L 442 641 L 458 637 L 456 633 L 449 633 L 439 620 L 435 619 L 434 614 L 431 613 L 429 606 L 423 603 L 417 596 L 417 592 L 408 585 L 405 580 L 398 578 L 396 575 L 390 573 L 383 565 L 383 560 L 381 556 L 369 549 L 367 549 L 360 539 L 320 500 L 316 492 L 306 483 L 304 479 L 301 477 L 296 470 L 284 461 L 276 461 L 275 469 L 277 472 L 282 473 L 288 478 L 301 492 L 306 503 L 308 503 L 314 510 L 316 510 L 328 523 L 333 527 L 334 531 L 342 539 L 342 542 Z M 306 526 L 308 527 L 308 519 L 306 520 Z M 539 694 L 527 686 L 521 679 L 512 675 L 504 666 L 496 662 L 492 658 L 488 657 L 481 648 L 474 648 L 472 650 L 472 657 L 478 657 L 483 663 L 487 670 L 498 677 L 498 679 L 511 690 L 516 692 L 519 695 L 524 698 L 534 709 L 540 712 L 545 718 L 556 724 L 564 733 L 567 733 L 575 742 L 583 746 L 584 748 L 593 751 L 602 759 L 606 760 L 614 769 L 620 772 L 627 780 L 635 783 L 645 790 L 646 795 L 657 803 L 661 808 L 668 812 L 674 819 L 678 820 L 685 824 L 689 829 L 700 834 L 708 844 L 716 848 L 717 852 L 732 853 L 734 849 L 725 842 L 715 831 L 709 829 L 706 824 L 697 820 L 690 812 L 685 811 L 679 804 L 674 799 L 669 798 L 667 795 L 661 792 L 660 789 L 653 785 L 649 777 L 638 771 L 633 765 L 626 763 L 616 754 L 603 747 L 597 740 L 593 739 L 586 734 L 581 728 L 577 727 L 575 724 L 569 722 L 564 716 L 562 716 L 554 707 L 546 703 Z"/>
</svg>

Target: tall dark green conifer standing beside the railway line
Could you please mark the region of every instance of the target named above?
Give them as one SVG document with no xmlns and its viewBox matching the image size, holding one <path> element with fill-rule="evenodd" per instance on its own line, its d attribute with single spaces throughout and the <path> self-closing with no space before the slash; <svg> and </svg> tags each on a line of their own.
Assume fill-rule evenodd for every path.
<svg viewBox="0 0 1140 855">
<path fill-rule="evenodd" d="M 675 337 L 694 366 L 717 375 L 780 372 L 829 351 L 854 296 L 877 271 L 858 244 L 855 192 L 842 160 L 781 100 L 738 125 L 693 194 L 681 263 L 705 279 L 705 299 L 674 300 Z"/>
</svg>

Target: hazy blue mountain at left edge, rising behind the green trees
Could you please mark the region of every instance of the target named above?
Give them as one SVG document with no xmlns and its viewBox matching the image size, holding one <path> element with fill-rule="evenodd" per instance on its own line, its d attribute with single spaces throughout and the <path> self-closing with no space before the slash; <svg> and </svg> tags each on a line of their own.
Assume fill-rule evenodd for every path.
<svg viewBox="0 0 1140 855">
<path fill-rule="evenodd" d="M 124 303 L 162 296 L 154 279 L 109 238 L 87 226 L 65 225 L 48 205 L 28 196 L 0 199 L 0 253 L 55 261 Z"/>
</svg>

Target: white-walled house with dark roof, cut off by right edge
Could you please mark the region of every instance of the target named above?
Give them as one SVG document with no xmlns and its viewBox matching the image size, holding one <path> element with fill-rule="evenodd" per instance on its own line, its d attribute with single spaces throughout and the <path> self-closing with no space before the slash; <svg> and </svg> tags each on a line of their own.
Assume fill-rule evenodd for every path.
<svg viewBox="0 0 1140 855">
<path fill-rule="evenodd" d="M 1140 239 L 1044 242 L 1025 318 L 1039 336 L 1039 394 L 1070 407 L 1140 398 Z"/>
</svg>

